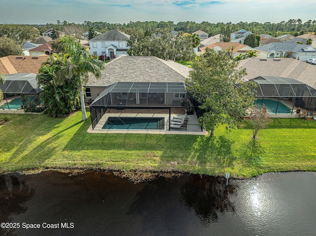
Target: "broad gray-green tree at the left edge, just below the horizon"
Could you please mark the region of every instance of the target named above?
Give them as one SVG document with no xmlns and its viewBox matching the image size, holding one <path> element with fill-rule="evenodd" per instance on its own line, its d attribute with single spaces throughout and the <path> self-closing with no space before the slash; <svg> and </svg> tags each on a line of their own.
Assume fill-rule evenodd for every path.
<svg viewBox="0 0 316 236">
<path fill-rule="evenodd" d="M 20 45 L 23 45 L 28 40 L 35 40 L 40 36 L 40 31 L 30 25 L 0 25 L 0 37 L 7 36 L 16 40 Z"/>
</svg>

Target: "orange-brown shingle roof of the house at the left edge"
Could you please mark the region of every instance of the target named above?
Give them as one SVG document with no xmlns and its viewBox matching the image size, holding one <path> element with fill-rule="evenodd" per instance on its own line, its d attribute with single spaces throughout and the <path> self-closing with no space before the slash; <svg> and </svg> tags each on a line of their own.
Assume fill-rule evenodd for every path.
<svg viewBox="0 0 316 236">
<path fill-rule="evenodd" d="M 47 55 L 42 56 L 7 56 L 0 58 L 0 73 L 39 73 L 41 64 L 47 60 Z"/>
</svg>

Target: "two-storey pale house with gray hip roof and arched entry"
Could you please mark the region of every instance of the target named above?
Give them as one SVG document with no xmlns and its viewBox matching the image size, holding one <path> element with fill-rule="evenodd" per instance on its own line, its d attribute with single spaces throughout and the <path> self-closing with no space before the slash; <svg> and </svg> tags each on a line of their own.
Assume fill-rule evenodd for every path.
<svg viewBox="0 0 316 236">
<path fill-rule="evenodd" d="M 100 34 L 89 40 L 90 52 L 93 55 L 101 56 L 105 54 L 111 59 L 126 55 L 127 50 L 130 48 L 127 46 L 127 39 L 129 35 L 118 30 L 111 30 L 104 34 Z"/>
</svg>

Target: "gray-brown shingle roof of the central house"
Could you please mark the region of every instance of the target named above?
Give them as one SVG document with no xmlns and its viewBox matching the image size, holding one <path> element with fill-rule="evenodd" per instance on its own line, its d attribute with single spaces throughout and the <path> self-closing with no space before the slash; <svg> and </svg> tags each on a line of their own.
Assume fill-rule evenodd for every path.
<svg viewBox="0 0 316 236">
<path fill-rule="evenodd" d="M 157 57 L 122 55 L 106 64 L 101 79 L 89 77 L 87 86 L 108 86 L 116 82 L 184 82 L 190 68 Z"/>
</svg>

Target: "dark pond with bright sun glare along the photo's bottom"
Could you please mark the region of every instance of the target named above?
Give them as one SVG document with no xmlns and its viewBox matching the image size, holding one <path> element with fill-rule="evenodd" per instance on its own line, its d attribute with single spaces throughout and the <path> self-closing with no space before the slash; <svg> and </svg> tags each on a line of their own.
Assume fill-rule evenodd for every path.
<svg viewBox="0 0 316 236">
<path fill-rule="evenodd" d="M 0 176 L 0 235 L 315 235 L 315 196 L 315 172 L 228 186 L 193 174 L 134 184 L 103 172 L 9 173 Z"/>
</svg>

